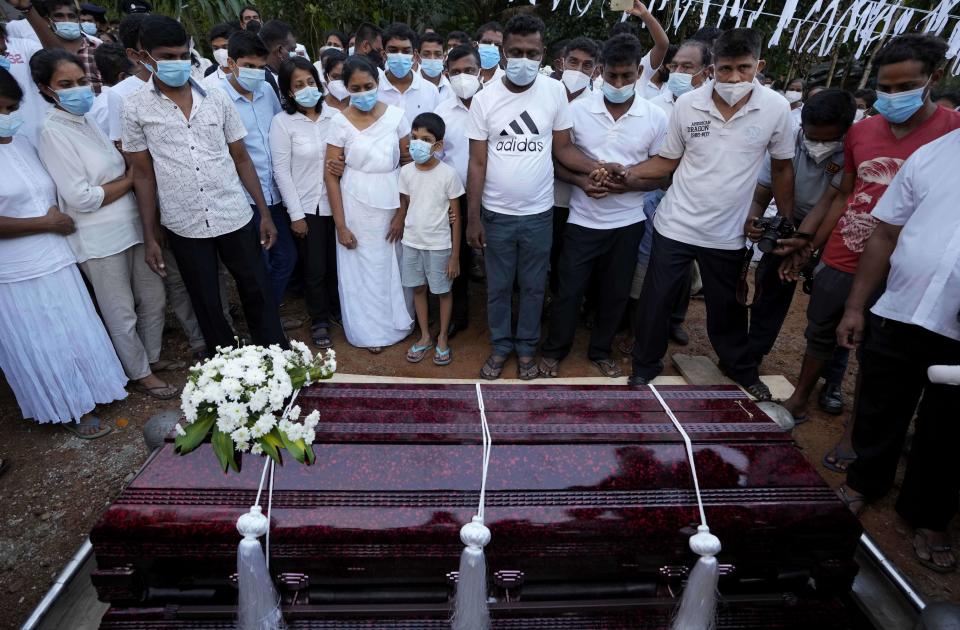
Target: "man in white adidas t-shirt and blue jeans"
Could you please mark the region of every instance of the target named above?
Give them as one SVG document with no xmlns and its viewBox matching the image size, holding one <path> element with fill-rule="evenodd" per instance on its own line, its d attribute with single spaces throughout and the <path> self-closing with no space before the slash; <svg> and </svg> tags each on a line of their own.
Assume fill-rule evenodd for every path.
<svg viewBox="0 0 960 630">
<path fill-rule="evenodd" d="M 543 22 L 529 15 L 507 23 L 506 75 L 488 83 L 470 106 L 467 240 L 471 247 L 486 248 L 493 352 L 480 372 L 485 379 L 499 378 L 514 351 L 520 378 L 537 377 L 534 356 L 553 233 L 553 159 L 576 173 L 600 166 L 570 140 L 563 84 L 539 72 L 543 31 Z M 520 286 L 516 335 L 514 280 Z"/>
</svg>

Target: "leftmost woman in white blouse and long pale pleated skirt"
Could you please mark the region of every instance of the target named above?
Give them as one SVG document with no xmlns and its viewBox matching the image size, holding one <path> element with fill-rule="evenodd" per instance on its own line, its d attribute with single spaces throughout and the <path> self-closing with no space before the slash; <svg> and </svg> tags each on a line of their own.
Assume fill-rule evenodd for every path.
<svg viewBox="0 0 960 630">
<path fill-rule="evenodd" d="M 0 369 L 24 418 L 100 437 L 111 429 L 91 412 L 125 398 L 127 378 L 64 238 L 73 220 L 33 145 L 15 135 L 22 98 L 0 68 Z"/>
</svg>

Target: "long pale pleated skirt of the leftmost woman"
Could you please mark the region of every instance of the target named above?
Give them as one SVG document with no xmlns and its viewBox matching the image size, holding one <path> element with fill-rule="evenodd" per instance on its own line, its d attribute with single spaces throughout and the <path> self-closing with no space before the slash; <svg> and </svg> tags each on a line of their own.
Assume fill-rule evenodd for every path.
<svg viewBox="0 0 960 630">
<path fill-rule="evenodd" d="M 24 418 L 73 422 L 126 398 L 123 373 L 76 265 L 0 283 L 0 368 Z"/>
</svg>

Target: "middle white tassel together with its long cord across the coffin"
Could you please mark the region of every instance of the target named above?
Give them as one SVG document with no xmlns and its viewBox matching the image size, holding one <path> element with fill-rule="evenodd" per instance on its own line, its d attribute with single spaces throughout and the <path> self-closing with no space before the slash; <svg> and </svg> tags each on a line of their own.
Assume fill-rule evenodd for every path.
<svg viewBox="0 0 960 630">
<path fill-rule="evenodd" d="M 487 413 L 483 406 L 483 393 L 477 383 L 477 406 L 480 410 L 480 433 L 483 444 L 480 469 L 480 505 L 477 514 L 460 528 L 460 540 L 464 544 L 460 554 L 460 573 L 457 576 L 457 593 L 453 601 L 453 630 L 487 630 L 490 627 L 490 610 L 487 608 L 487 560 L 483 548 L 490 542 L 490 530 L 483 524 L 487 496 L 487 469 L 490 466 L 490 451 L 493 438 L 487 425 Z"/>
</svg>

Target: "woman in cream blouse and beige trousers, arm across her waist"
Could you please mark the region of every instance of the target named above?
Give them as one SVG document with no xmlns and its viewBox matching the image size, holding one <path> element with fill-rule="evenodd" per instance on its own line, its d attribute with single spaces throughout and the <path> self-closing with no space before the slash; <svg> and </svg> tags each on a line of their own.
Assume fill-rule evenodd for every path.
<svg viewBox="0 0 960 630">
<path fill-rule="evenodd" d="M 93 286 L 100 313 L 132 387 L 166 400 L 179 388 L 158 378 L 166 294 L 147 266 L 133 177 L 123 156 L 85 114 L 90 87 L 76 57 L 44 50 L 30 60 L 40 95 L 54 105 L 37 151 L 57 185 L 64 214 L 76 224 L 67 237 Z"/>
</svg>

